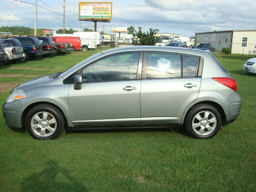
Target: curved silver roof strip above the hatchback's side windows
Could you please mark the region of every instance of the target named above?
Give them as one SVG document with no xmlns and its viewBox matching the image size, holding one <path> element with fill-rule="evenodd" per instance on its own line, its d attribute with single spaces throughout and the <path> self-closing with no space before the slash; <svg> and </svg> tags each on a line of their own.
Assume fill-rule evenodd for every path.
<svg viewBox="0 0 256 192">
<path fill-rule="evenodd" d="M 180 48 L 180 47 L 170 47 L 170 46 L 126 46 L 119 48 L 112 48 L 108 50 L 102 51 L 102 54 L 114 54 L 119 52 L 127 52 L 127 51 L 159 51 L 159 52 L 174 52 L 180 54 L 190 54 L 197 56 L 209 56 L 212 55 L 211 52 L 206 52 L 202 50 L 196 50 L 192 48 Z"/>
</svg>

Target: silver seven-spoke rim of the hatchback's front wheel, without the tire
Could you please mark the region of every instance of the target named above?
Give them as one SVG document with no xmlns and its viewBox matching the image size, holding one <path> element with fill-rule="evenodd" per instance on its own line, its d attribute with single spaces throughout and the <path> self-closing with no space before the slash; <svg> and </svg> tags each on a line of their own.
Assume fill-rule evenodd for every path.
<svg viewBox="0 0 256 192">
<path fill-rule="evenodd" d="M 41 137 L 47 137 L 56 131 L 57 121 L 48 112 L 38 112 L 32 117 L 30 125 L 35 134 Z"/>
</svg>

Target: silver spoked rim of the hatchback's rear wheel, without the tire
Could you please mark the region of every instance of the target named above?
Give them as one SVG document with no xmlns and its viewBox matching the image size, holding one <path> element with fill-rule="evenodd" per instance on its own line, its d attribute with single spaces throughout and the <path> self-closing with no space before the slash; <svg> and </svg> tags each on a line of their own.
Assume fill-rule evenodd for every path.
<svg viewBox="0 0 256 192">
<path fill-rule="evenodd" d="M 199 135 L 208 135 L 216 128 L 217 119 L 210 111 L 201 111 L 196 114 L 192 121 L 194 132 Z"/>
</svg>

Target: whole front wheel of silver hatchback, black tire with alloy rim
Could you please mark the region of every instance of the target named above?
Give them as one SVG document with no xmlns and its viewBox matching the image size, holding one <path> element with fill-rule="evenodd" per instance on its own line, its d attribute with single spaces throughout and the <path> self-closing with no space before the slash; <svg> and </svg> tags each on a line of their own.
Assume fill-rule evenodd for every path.
<svg viewBox="0 0 256 192">
<path fill-rule="evenodd" d="M 45 114 L 46 119 L 44 120 Z M 34 124 L 34 129 L 32 124 Z M 64 130 L 64 117 L 62 112 L 55 106 L 40 104 L 28 112 L 25 126 L 33 138 L 43 140 L 56 139 Z"/>
</svg>

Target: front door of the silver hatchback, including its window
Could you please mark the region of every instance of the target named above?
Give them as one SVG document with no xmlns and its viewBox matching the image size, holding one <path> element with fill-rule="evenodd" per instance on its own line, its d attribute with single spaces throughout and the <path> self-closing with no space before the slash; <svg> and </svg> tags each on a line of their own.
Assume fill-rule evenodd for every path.
<svg viewBox="0 0 256 192">
<path fill-rule="evenodd" d="M 115 54 L 82 69 L 82 89 L 71 84 L 68 96 L 74 126 L 140 124 L 139 58 Z"/>
</svg>

